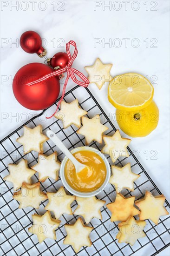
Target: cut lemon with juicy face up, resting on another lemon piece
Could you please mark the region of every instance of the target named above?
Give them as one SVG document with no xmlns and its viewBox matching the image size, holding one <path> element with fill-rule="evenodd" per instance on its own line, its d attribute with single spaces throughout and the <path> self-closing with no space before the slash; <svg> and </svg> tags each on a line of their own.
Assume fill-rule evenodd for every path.
<svg viewBox="0 0 170 256">
<path fill-rule="evenodd" d="M 108 100 L 120 110 L 146 108 L 153 99 L 154 88 L 143 75 L 127 73 L 115 76 L 108 86 Z"/>
</svg>

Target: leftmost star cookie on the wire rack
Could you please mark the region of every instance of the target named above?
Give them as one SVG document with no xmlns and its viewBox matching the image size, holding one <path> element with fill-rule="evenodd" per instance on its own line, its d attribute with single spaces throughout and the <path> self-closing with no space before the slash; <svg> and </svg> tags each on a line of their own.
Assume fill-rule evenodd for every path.
<svg viewBox="0 0 170 256">
<path fill-rule="evenodd" d="M 18 164 L 8 164 L 9 175 L 4 177 L 7 182 L 13 183 L 13 190 L 20 189 L 23 182 L 31 183 L 31 177 L 35 174 L 35 171 L 28 168 L 27 161 L 22 159 Z"/>
</svg>

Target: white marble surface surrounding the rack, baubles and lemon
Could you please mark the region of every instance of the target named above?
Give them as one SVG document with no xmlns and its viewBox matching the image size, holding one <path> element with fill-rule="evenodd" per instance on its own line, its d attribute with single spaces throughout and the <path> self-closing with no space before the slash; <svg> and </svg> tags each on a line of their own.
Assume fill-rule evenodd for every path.
<svg viewBox="0 0 170 256">
<path fill-rule="evenodd" d="M 138 150 L 139 161 L 170 201 L 169 1 L 1 1 L 1 10 L 1 138 L 39 113 L 23 108 L 12 91 L 20 67 L 43 61 L 21 49 L 20 35 L 37 31 L 49 57 L 65 51 L 65 43 L 75 40 L 78 57 L 73 66 L 84 74 L 84 67 L 99 57 L 113 64 L 112 76 L 136 72 L 153 82 L 159 123 L 147 137 L 133 138 L 131 149 Z M 73 86 L 69 81 L 67 90 Z M 107 85 L 99 91 L 91 84 L 89 89 L 118 128 L 115 108 L 107 100 Z M 169 255 L 169 250 L 163 253 Z"/>
</svg>

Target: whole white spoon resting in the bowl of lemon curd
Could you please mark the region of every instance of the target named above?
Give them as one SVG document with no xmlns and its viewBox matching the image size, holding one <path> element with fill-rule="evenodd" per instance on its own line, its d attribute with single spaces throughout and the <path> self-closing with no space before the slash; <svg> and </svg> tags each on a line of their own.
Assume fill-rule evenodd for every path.
<svg viewBox="0 0 170 256">
<path fill-rule="evenodd" d="M 73 165 L 75 166 L 76 173 L 82 171 L 84 168 L 87 166 L 85 164 L 82 164 L 77 161 L 77 159 L 70 153 L 70 151 L 65 147 L 62 141 L 60 141 L 59 137 L 52 131 L 48 130 L 46 132 L 46 135 L 48 136 L 49 139 L 51 139 L 56 146 L 63 151 L 63 153 L 72 161 Z"/>
</svg>

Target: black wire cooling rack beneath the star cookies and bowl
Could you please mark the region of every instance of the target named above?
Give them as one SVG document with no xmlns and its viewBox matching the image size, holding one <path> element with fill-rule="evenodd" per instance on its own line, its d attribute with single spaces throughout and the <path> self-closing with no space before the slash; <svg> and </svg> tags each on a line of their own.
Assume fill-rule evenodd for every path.
<svg viewBox="0 0 170 256">
<path fill-rule="evenodd" d="M 100 115 L 100 120 L 109 129 L 107 135 L 111 135 L 116 131 L 103 109 L 100 107 L 94 96 L 91 94 L 88 88 L 82 88 L 76 86 L 65 94 L 64 100 L 71 102 L 74 99 L 78 99 L 81 108 L 88 112 L 88 117 L 92 117 L 94 114 Z M 59 101 L 59 99 L 58 99 Z M 41 114 L 34 116 L 31 120 L 27 121 L 24 125 L 34 128 L 38 124 L 43 126 L 43 131 L 52 129 L 56 132 L 59 138 L 64 142 L 65 146 L 71 150 L 72 148 L 85 146 L 85 138 L 76 133 L 77 128 L 71 126 L 63 129 L 62 122 L 55 118 L 47 120 L 46 115 L 53 113 L 56 108 L 57 102 L 52 107 L 44 110 Z M 48 115 L 48 116 L 49 116 Z M 19 209 L 19 202 L 12 198 L 13 188 L 11 183 L 5 182 L 3 177 L 8 175 L 8 164 L 17 164 L 21 159 L 28 161 L 28 166 L 31 167 L 38 162 L 38 153 L 30 152 L 24 155 L 23 147 L 16 142 L 16 139 L 23 134 L 23 126 L 17 128 L 13 133 L 9 134 L 6 138 L 0 141 L 1 146 L 1 171 L 0 171 L 0 255 L 1 256 L 151 256 L 156 255 L 166 247 L 170 245 L 170 216 L 161 217 L 158 225 L 153 224 L 150 220 L 147 220 L 147 225 L 144 229 L 146 236 L 131 246 L 126 243 L 118 243 L 116 235 L 118 233 L 118 222 L 111 222 L 111 213 L 106 208 L 106 204 L 113 202 L 116 196 L 114 186 L 108 184 L 105 190 L 99 193 L 96 197 L 106 201 L 106 204 L 101 209 L 102 220 L 93 218 L 89 223 L 89 226 L 94 227 L 90 237 L 92 240 L 91 247 L 82 247 L 78 254 L 75 253 L 72 246 L 64 245 L 63 240 L 66 236 L 64 229 L 65 224 L 73 224 L 78 216 L 63 215 L 60 217 L 61 224 L 56 230 L 57 240 L 46 239 L 44 242 L 38 242 L 37 236 L 28 232 L 28 228 L 33 224 L 32 215 L 34 213 L 43 214 L 45 212 L 44 207 L 47 204 L 47 200 L 41 202 L 39 209 L 33 209 L 31 207 L 25 209 Z M 90 146 L 100 150 L 104 145 L 93 141 Z M 54 146 L 51 141 L 44 143 L 44 154 L 50 155 L 52 152 L 58 152 L 58 159 L 62 161 L 64 158 L 63 152 Z M 145 191 L 149 190 L 153 195 L 160 195 L 161 192 L 157 188 L 156 184 L 151 180 L 144 167 L 139 162 L 139 157 L 128 147 L 129 157 L 119 158 L 115 163 L 119 167 L 124 166 L 126 163 L 131 163 L 131 168 L 134 173 L 141 176 L 134 182 L 134 191 L 130 192 L 127 189 L 122 191 L 125 197 L 135 195 L 136 199 L 140 199 L 144 196 Z M 111 163 L 110 157 L 107 156 Z M 33 182 L 38 181 L 38 176 L 33 176 Z M 58 181 L 47 179 L 41 183 L 41 189 L 45 192 L 56 192 L 62 182 L 59 178 Z M 67 191 L 68 192 L 68 191 Z M 68 192 L 69 194 L 69 192 Z M 170 212 L 170 204 L 165 201 L 165 208 Z M 77 202 L 72 203 L 72 211 L 76 209 Z"/>
</svg>

